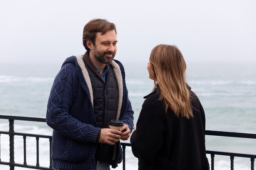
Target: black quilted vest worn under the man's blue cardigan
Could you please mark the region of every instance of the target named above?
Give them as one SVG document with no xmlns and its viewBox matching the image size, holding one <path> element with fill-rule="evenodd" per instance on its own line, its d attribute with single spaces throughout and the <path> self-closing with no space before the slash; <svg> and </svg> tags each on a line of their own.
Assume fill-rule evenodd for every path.
<svg viewBox="0 0 256 170">
<path fill-rule="evenodd" d="M 109 121 L 116 119 L 118 106 L 118 85 L 112 66 L 106 74 L 105 82 L 101 78 L 95 66 L 92 64 L 88 53 L 83 56 L 85 67 L 87 68 L 92 83 L 93 110 L 97 126 L 108 128 Z M 113 146 L 98 143 L 95 153 L 97 161 L 111 161 Z"/>
</svg>

